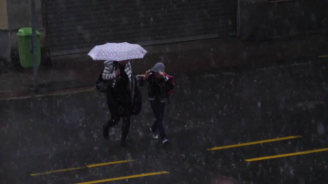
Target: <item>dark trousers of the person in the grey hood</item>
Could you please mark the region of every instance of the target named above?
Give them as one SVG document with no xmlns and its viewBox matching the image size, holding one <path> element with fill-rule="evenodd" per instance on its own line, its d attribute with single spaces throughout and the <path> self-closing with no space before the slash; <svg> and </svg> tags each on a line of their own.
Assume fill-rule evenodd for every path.
<svg viewBox="0 0 328 184">
<path fill-rule="evenodd" d="M 160 102 L 159 100 L 150 100 L 150 106 L 153 109 L 153 113 L 155 115 L 155 122 L 152 126 L 153 132 L 156 132 L 158 129 L 159 136 L 162 138 L 166 138 L 164 126 L 163 126 L 163 117 L 165 110 L 165 102 Z"/>
</svg>

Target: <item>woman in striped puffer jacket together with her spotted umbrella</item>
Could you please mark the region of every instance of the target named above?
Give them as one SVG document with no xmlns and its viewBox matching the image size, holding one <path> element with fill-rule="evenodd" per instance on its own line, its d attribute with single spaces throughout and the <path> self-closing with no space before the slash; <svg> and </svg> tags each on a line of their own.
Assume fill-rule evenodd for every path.
<svg viewBox="0 0 328 184">
<path fill-rule="evenodd" d="M 137 44 L 129 43 L 107 43 L 101 46 L 95 46 L 90 52 L 94 60 L 106 60 L 104 62 L 105 69 L 102 73 L 102 79 L 111 81 L 107 90 L 107 105 L 111 113 L 111 119 L 103 125 L 103 137 L 108 139 L 109 128 L 118 124 L 121 118 L 122 137 L 120 145 L 126 147 L 126 137 L 130 129 L 131 115 L 136 115 L 134 107 L 134 97 L 139 92 L 136 80 L 139 76 L 134 76 L 131 67 L 131 59 L 143 58 L 147 53 L 145 49 Z M 138 94 L 141 98 L 141 94 Z M 141 104 L 141 102 L 140 102 Z"/>
</svg>

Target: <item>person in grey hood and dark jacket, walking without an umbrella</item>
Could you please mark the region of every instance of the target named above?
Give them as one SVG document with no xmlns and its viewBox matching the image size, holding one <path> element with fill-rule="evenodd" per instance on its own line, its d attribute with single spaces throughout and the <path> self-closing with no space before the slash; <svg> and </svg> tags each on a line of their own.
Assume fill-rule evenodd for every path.
<svg viewBox="0 0 328 184">
<path fill-rule="evenodd" d="M 165 101 L 168 97 L 168 91 L 174 88 L 171 80 L 164 73 L 165 66 L 163 63 L 157 63 L 154 67 L 146 72 L 144 78 L 148 81 L 148 99 L 155 115 L 155 122 L 150 128 L 154 139 L 158 139 L 157 130 L 162 139 L 162 143 L 166 145 L 166 138 L 163 117 L 165 109 Z"/>
</svg>

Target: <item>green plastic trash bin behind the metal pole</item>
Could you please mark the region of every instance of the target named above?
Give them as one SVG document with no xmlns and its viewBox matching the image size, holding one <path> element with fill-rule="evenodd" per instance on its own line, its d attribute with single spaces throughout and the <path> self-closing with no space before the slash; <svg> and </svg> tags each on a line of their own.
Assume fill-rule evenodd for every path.
<svg viewBox="0 0 328 184">
<path fill-rule="evenodd" d="M 36 31 L 36 56 L 38 66 L 41 62 L 40 32 Z M 18 30 L 18 51 L 20 64 L 24 68 L 33 67 L 33 50 L 32 50 L 32 28 L 21 28 Z"/>
</svg>

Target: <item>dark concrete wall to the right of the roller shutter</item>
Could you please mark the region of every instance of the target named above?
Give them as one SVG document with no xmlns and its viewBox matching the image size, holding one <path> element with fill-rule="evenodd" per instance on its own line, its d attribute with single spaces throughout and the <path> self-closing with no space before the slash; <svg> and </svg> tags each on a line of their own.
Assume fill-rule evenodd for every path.
<svg viewBox="0 0 328 184">
<path fill-rule="evenodd" d="M 322 33 L 328 27 L 328 1 L 240 0 L 241 38 L 263 41 Z"/>
</svg>

